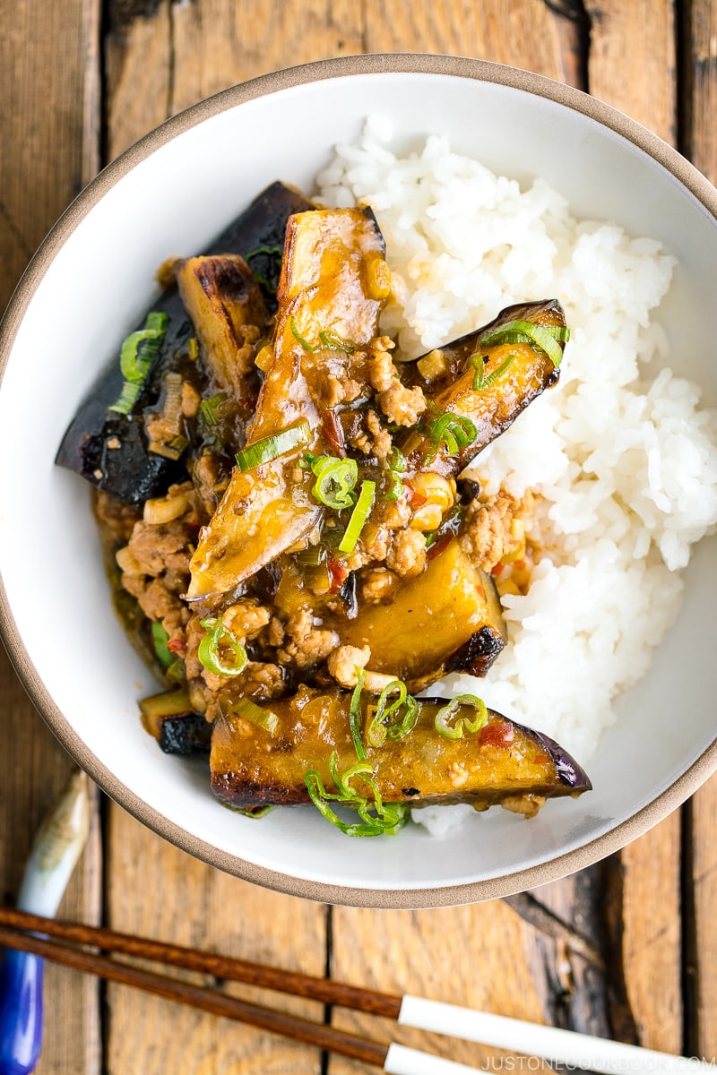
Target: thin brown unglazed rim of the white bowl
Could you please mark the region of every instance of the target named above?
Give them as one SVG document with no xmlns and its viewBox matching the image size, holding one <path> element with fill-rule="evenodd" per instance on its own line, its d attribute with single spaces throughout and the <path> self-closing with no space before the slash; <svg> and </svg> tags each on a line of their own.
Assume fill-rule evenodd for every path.
<svg viewBox="0 0 717 1075">
<path fill-rule="evenodd" d="M 48 266 L 91 209 L 146 157 L 204 119 L 247 101 L 313 82 L 382 73 L 442 75 L 488 82 L 543 97 L 583 113 L 646 153 L 717 218 L 717 190 L 676 149 L 635 120 L 571 86 L 518 68 L 461 56 L 379 53 L 316 60 L 260 75 L 178 113 L 131 145 L 84 188 L 39 247 L 8 305 L 0 325 L 0 385 L 19 326 Z M 77 764 L 125 809 L 170 843 L 211 865 L 254 884 L 324 903 L 374 908 L 455 906 L 497 899 L 556 880 L 625 847 L 677 808 L 717 770 L 715 739 L 670 787 L 608 832 L 563 855 L 500 877 L 436 888 L 390 890 L 326 884 L 292 877 L 223 851 L 169 821 L 118 780 L 86 747 L 51 698 L 19 636 L 1 577 L 0 636 L 26 691 L 56 737 Z"/>
</svg>

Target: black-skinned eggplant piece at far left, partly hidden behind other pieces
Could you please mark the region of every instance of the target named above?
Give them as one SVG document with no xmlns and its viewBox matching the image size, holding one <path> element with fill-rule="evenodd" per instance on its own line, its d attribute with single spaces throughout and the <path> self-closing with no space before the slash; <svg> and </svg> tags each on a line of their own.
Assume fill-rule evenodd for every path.
<svg viewBox="0 0 717 1075">
<path fill-rule="evenodd" d="M 257 250 L 281 247 L 289 216 L 311 207 L 312 203 L 298 190 L 274 183 L 209 244 L 209 253 L 247 257 Z M 268 256 L 261 254 L 260 258 Z M 143 412 L 156 404 L 160 371 L 169 359 L 188 348 L 192 328 L 174 285 L 149 309 L 167 314 L 169 325 L 132 415 L 107 411 L 119 398 L 124 384 L 119 361 L 113 358 L 70 424 L 55 459 L 60 467 L 75 471 L 127 504 L 142 504 L 150 497 L 162 496 L 173 482 L 186 476 L 181 463 L 148 450 Z"/>
</svg>

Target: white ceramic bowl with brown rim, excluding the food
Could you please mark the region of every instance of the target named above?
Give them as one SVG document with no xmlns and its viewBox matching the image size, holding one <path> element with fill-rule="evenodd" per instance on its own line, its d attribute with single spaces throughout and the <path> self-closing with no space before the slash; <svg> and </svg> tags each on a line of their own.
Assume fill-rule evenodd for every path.
<svg viewBox="0 0 717 1075">
<path fill-rule="evenodd" d="M 0 616 L 57 736 L 114 799 L 201 859 L 335 903 L 438 906 L 542 884 L 623 846 L 717 766 L 712 589 L 717 548 L 687 572 L 678 622 L 589 764 L 594 785 L 531 822 L 491 811 L 438 841 L 348 840 L 311 808 L 260 822 L 223 808 L 205 770 L 162 755 L 137 701 L 157 689 L 112 611 L 89 494 L 54 465 L 62 433 L 150 299 L 157 266 L 218 233 L 275 178 L 311 188 L 371 114 L 402 146 L 445 133 L 489 168 L 543 175 L 578 216 L 663 241 L 679 266 L 662 322 L 717 402 L 717 191 L 632 120 L 574 89 L 477 60 L 368 56 L 278 72 L 204 101 L 132 146 L 45 240 L 0 336 Z"/>
</svg>

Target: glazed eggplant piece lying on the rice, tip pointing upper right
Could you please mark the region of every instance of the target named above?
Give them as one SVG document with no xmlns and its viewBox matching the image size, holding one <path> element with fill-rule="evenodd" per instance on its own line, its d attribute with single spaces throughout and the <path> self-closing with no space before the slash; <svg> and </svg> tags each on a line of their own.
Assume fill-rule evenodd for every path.
<svg viewBox="0 0 717 1075">
<path fill-rule="evenodd" d="M 410 471 L 431 470 L 446 476 L 460 473 L 486 445 L 515 421 L 536 396 L 558 383 L 559 369 L 544 350 L 530 343 L 478 345 L 484 333 L 513 320 L 565 328 L 565 315 L 555 299 L 507 306 L 477 332 L 471 332 L 441 348 L 444 372 L 439 377 L 427 383 L 417 367 L 408 373 L 408 383 L 424 388 L 436 412 L 450 412 L 469 418 L 477 432 L 473 441 L 450 455 L 445 443 L 436 445 L 429 431 L 421 428 L 411 430 L 400 444 Z M 560 342 L 559 346 L 564 348 L 564 343 Z M 476 371 L 470 358 L 476 353 L 485 356 L 487 378 L 493 371 L 500 370 L 508 358 L 511 362 L 494 382 L 485 388 L 474 389 Z"/>
</svg>

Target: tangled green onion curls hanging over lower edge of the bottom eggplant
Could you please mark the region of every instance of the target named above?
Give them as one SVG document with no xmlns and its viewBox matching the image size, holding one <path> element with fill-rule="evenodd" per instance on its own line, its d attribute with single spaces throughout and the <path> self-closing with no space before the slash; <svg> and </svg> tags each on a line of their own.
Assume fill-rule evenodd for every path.
<svg viewBox="0 0 717 1075">
<path fill-rule="evenodd" d="M 309 770 L 304 776 L 311 800 L 327 821 L 330 821 L 347 836 L 382 836 L 387 833 L 392 835 L 406 823 L 408 807 L 403 803 L 383 802 L 373 778 L 373 770 L 368 762 L 357 762 L 343 773 L 339 773 L 338 765 L 339 759 L 334 750 L 329 758 L 329 772 L 336 787 L 335 794 L 326 790 L 324 782 L 315 769 Z M 369 786 L 373 798 L 371 804 L 369 804 L 368 797 L 360 796 L 354 788 L 352 782 L 356 778 L 363 780 Z M 350 806 L 356 811 L 361 823 L 352 825 L 342 820 L 329 805 L 330 802 Z"/>
</svg>

